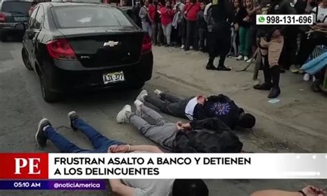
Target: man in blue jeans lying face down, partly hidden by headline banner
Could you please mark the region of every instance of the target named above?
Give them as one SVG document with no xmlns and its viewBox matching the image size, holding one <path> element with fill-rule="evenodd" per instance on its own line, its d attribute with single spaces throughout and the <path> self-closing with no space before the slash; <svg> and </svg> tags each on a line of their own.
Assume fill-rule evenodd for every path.
<svg viewBox="0 0 327 196">
<path fill-rule="evenodd" d="M 81 149 L 57 133 L 48 119 L 41 119 L 35 139 L 45 147 L 47 140 L 52 141 L 61 153 L 162 153 L 157 146 L 130 146 L 121 141 L 108 139 L 95 128 L 86 124 L 76 112 L 68 113 L 70 126 L 80 130 L 90 141 L 94 150 Z M 113 192 L 123 196 L 208 196 L 208 188 L 201 179 L 109 179 Z"/>
</svg>

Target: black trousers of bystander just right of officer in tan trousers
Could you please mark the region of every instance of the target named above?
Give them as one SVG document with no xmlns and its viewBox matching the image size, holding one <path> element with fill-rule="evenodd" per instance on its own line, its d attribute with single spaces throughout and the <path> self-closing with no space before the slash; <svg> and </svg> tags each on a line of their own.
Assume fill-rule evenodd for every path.
<svg viewBox="0 0 327 196">
<path fill-rule="evenodd" d="M 284 36 L 284 46 L 279 57 L 279 64 L 283 68 L 289 69 L 291 65 L 296 63 L 297 53 L 297 32 Z"/>
</svg>

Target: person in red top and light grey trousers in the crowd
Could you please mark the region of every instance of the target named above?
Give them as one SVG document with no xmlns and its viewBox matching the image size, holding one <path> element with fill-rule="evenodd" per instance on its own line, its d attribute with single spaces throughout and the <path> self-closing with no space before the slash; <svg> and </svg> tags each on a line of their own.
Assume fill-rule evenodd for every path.
<svg viewBox="0 0 327 196">
<path fill-rule="evenodd" d="M 160 12 L 162 31 L 166 37 L 166 47 L 168 47 L 170 46 L 170 35 L 172 32 L 172 19 L 174 18 L 174 11 L 169 1 L 166 2 L 166 7 L 160 9 Z"/>
</svg>

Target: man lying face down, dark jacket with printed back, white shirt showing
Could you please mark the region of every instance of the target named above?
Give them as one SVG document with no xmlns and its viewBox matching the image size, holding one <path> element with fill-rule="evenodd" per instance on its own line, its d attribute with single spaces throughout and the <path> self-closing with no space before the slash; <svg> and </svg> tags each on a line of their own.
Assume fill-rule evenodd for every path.
<svg viewBox="0 0 327 196">
<path fill-rule="evenodd" d="M 155 94 L 155 96 L 148 95 L 146 90 L 142 90 L 137 99 L 175 117 L 187 117 L 190 120 L 217 117 L 230 128 L 255 126 L 255 117 L 245 113 L 226 95 L 212 95 L 208 98 L 198 95 L 188 99 L 179 99 L 160 90 L 155 90 Z"/>
</svg>

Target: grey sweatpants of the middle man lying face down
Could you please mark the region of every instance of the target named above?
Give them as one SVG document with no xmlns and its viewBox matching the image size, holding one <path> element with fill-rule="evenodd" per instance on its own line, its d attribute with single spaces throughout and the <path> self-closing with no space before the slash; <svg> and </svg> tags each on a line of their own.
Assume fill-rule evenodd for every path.
<svg viewBox="0 0 327 196">
<path fill-rule="evenodd" d="M 127 117 L 135 127 L 148 139 L 155 141 L 155 143 L 172 150 L 172 145 L 177 134 L 177 127 L 175 124 L 168 122 L 159 115 L 158 112 L 146 106 L 141 106 L 141 113 L 135 114 L 128 112 Z M 144 119 L 142 118 L 144 117 Z M 150 118 L 155 121 L 155 125 L 149 124 L 145 119 Z"/>
</svg>

